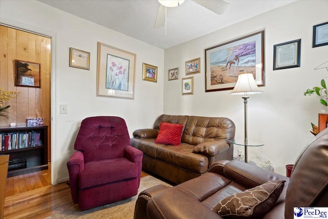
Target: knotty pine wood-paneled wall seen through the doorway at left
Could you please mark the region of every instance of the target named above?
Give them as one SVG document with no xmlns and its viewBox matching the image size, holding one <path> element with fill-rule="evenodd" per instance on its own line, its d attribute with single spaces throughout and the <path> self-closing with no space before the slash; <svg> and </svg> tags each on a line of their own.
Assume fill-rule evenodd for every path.
<svg viewBox="0 0 328 219">
<path fill-rule="evenodd" d="M 0 120 L 0 126 L 26 124 L 26 118 L 44 117 L 48 129 L 48 160 L 50 160 L 50 65 L 51 38 L 0 25 L 0 88 L 20 91 L 10 99 L 10 118 Z M 16 87 L 14 60 L 40 63 L 40 88 Z M 7 106 L 5 104 L 4 106 Z"/>
</svg>

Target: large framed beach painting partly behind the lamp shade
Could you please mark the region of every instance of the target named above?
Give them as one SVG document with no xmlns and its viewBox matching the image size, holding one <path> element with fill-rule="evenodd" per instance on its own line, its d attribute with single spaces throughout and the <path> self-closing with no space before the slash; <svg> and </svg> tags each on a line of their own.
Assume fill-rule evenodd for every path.
<svg viewBox="0 0 328 219">
<path fill-rule="evenodd" d="M 264 30 L 205 49 L 206 92 L 232 90 L 241 73 L 264 86 Z"/>
</svg>

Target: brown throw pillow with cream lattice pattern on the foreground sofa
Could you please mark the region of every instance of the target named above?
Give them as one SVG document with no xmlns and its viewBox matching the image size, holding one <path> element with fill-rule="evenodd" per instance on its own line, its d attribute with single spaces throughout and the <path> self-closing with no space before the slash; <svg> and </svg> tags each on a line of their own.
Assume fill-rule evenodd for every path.
<svg viewBox="0 0 328 219">
<path fill-rule="evenodd" d="M 284 180 L 269 181 L 224 198 L 216 206 L 224 218 L 262 218 L 277 202 Z"/>
</svg>

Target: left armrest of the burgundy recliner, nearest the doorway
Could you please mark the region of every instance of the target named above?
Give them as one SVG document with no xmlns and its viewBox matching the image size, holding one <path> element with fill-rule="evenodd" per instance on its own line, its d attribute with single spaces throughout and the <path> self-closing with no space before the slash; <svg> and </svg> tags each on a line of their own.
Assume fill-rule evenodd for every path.
<svg viewBox="0 0 328 219">
<path fill-rule="evenodd" d="M 75 151 L 67 162 L 70 177 L 71 195 L 74 204 L 78 201 L 77 176 L 84 170 L 84 155 L 81 151 Z"/>
</svg>

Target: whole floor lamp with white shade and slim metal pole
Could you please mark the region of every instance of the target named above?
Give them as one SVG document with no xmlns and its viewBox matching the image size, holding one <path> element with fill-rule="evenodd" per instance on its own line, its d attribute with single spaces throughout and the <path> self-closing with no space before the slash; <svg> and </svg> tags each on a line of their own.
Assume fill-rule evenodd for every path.
<svg viewBox="0 0 328 219">
<path fill-rule="evenodd" d="M 244 99 L 244 131 L 245 131 L 245 139 L 244 139 L 244 147 L 245 147 L 245 163 L 247 163 L 247 102 L 248 98 L 250 98 L 249 94 L 262 93 L 260 89 L 257 87 L 253 74 L 252 73 L 241 73 L 238 75 L 237 83 L 234 89 L 230 94 L 240 94 L 243 95 Z"/>
</svg>

